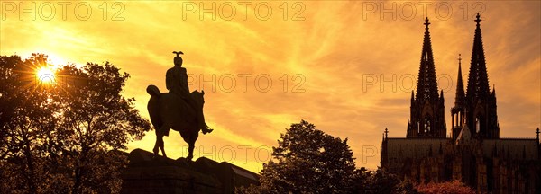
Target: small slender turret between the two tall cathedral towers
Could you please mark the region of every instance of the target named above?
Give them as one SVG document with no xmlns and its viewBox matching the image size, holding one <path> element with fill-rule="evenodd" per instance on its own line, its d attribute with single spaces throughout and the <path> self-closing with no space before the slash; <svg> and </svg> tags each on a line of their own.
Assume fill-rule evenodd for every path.
<svg viewBox="0 0 541 194">
<path fill-rule="evenodd" d="M 456 140 L 458 134 L 463 128 L 463 118 L 466 110 L 466 96 L 464 93 L 464 85 L 462 80 L 462 57 L 458 54 L 458 75 L 456 78 L 456 95 L 454 97 L 454 107 L 451 109 L 452 119 L 452 137 Z"/>
</svg>

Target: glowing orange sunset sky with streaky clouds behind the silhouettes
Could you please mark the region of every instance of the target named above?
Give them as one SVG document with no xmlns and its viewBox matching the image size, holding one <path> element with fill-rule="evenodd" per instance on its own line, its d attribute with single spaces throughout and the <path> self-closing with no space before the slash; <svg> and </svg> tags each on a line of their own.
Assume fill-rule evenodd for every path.
<svg viewBox="0 0 541 194">
<path fill-rule="evenodd" d="M 467 80 L 477 12 L 501 137 L 535 137 L 541 125 L 538 1 L 0 4 L 0 55 L 38 52 L 57 64 L 110 61 L 132 75 L 124 95 L 137 100 L 146 118 L 146 86 L 164 91 L 171 51 L 182 50 L 193 77 L 190 89 L 205 89 L 206 122 L 215 128 L 199 137 L 196 158 L 254 172 L 270 159 L 280 133 L 301 119 L 348 137 L 357 166 L 376 168 L 383 129 L 389 128 L 390 137 L 406 135 L 426 13 L 447 128 L 456 58 L 462 54 Z M 210 11 L 203 12 L 203 6 Z M 151 131 L 129 148 L 151 150 L 154 141 Z M 178 133 L 165 137 L 165 144 L 170 157 L 186 156 L 187 144 Z"/>
</svg>

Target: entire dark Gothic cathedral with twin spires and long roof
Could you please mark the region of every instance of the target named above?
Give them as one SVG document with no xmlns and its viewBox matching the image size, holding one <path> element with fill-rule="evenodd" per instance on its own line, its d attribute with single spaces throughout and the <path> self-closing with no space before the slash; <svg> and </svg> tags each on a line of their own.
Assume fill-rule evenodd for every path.
<svg viewBox="0 0 541 194">
<path fill-rule="evenodd" d="M 406 137 L 381 143 L 381 168 L 403 180 L 459 180 L 490 193 L 540 193 L 541 145 L 536 137 L 501 138 L 496 91 L 490 90 L 477 14 L 467 91 L 459 57 L 451 130 L 447 136 L 444 92 L 438 91 L 436 66 L 426 18 L 417 88 L 411 93 Z"/>
</svg>

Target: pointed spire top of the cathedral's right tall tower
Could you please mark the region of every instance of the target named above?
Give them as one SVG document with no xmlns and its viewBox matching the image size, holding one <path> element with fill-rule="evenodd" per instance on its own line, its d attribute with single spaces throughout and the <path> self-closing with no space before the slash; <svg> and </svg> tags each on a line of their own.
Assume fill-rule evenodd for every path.
<svg viewBox="0 0 541 194">
<path fill-rule="evenodd" d="M 468 91 L 466 96 L 472 98 L 486 98 L 490 94 L 489 76 L 485 63 L 484 49 L 481 37 L 481 16 L 477 13 L 475 22 L 475 36 L 473 39 L 472 62 L 470 64 L 470 75 L 468 77 Z"/>
</svg>

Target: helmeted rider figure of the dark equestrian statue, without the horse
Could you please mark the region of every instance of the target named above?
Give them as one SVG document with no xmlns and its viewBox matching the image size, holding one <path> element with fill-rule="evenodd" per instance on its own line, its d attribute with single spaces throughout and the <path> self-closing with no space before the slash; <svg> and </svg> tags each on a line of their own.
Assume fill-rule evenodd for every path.
<svg viewBox="0 0 541 194">
<path fill-rule="evenodd" d="M 196 111 L 197 125 L 203 134 L 210 133 L 213 131 L 213 129 L 206 125 L 203 110 L 197 108 L 196 100 L 193 99 L 192 95 L 189 93 L 188 74 L 186 73 L 186 68 L 182 67 L 182 58 L 179 56 L 184 53 L 181 51 L 173 53 L 177 54 L 177 57 L 174 58 L 175 66 L 167 70 L 165 75 L 166 87 L 170 93 L 173 93 L 180 99 L 186 101 L 186 103 L 188 103 L 189 106 Z"/>
</svg>

